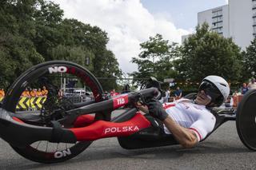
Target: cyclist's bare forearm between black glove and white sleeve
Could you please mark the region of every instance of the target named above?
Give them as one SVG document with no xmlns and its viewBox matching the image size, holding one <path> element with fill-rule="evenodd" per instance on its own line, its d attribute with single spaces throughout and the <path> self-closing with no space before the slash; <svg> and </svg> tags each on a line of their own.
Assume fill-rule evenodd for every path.
<svg viewBox="0 0 256 170">
<path fill-rule="evenodd" d="M 178 140 L 178 143 L 182 145 L 184 148 L 193 148 L 196 144 L 198 144 L 198 137 L 194 133 L 194 131 L 189 128 L 183 128 L 178 125 L 171 117 L 166 117 L 164 121 L 162 121 L 166 128 L 174 135 L 175 139 Z"/>
</svg>

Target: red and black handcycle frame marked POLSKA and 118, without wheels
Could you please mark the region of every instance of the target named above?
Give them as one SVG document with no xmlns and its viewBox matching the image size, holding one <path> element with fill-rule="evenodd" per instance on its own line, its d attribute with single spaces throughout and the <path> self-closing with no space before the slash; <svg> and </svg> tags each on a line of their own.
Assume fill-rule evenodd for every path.
<svg viewBox="0 0 256 170">
<path fill-rule="evenodd" d="M 65 122 L 66 125 L 70 125 L 70 123 L 77 126 L 86 125 L 88 124 L 88 119 L 89 123 L 90 120 L 93 120 L 90 115 L 86 114 L 102 112 L 104 110 L 112 111 L 129 104 L 134 105 L 140 97 L 152 98 L 156 94 L 158 94 L 158 89 L 150 88 L 143 89 L 138 93 L 132 92 L 118 95 L 107 101 L 100 101 L 70 110 L 68 111 L 70 117 L 60 121 Z M 135 107 L 133 106 L 133 108 Z M 128 121 L 126 118 L 121 118 L 118 122 L 95 121 L 89 126 L 78 128 L 62 128 L 58 121 L 53 122 L 53 128 L 28 125 L 18 119 L 18 117 L 12 117 L 14 114 L 7 112 L 5 109 L 0 110 L 0 112 L 2 112 L 0 114 L 1 138 L 19 147 L 24 147 L 38 140 L 48 140 L 55 143 L 75 143 L 77 141 L 92 141 L 112 136 L 130 136 L 134 132 L 150 127 L 150 122 L 146 120 L 146 117 L 138 113 L 137 109 L 133 109 L 130 112 L 135 114 Z"/>
</svg>

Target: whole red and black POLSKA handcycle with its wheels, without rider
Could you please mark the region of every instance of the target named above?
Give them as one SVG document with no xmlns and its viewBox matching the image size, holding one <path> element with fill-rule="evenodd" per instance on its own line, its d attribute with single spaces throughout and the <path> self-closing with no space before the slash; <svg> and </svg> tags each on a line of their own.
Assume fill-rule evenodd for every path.
<svg viewBox="0 0 256 170">
<path fill-rule="evenodd" d="M 94 100 L 74 103 L 68 97 L 58 96 L 66 80 L 86 86 Z M 36 110 L 21 110 L 18 105 L 22 92 L 38 86 L 48 89 L 46 101 Z M 178 144 L 174 136 L 162 132 L 157 119 L 138 111 L 138 102 L 146 105 L 152 98 L 161 97 L 161 86 L 156 79 L 151 78 L 147 88 L 138 92 L 113 98 L 103 94 L 97 78 L 81 65 L 69 61 L 35 65 L 22 73 L 6 93 L 0 108 L 0 137 L 26 159 L 46 164 L 69 160 L 94 140 L 106 137 L 118 137 L 118 143 L 126 149 Z M 192 97 L 194 94 L 187 96 Z M 242 98 L 237 110 L 212 109 L 217 120 L 212 132 L 226 121 L 236 121 L 242 143 L 255 151 L 255 101 L 256 90 L 251 90 Z M 120 108 L 122 114 L 111 117 L 112 111 Z"/>
</svg>

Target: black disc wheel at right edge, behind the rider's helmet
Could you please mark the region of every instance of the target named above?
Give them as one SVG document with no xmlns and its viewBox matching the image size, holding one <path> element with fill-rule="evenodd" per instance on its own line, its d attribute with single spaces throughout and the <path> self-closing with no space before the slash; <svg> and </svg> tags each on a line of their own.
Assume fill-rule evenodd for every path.
<svg viewBox="0 0 256 170">
<path fill-rule="evenodd" d="M 256 151 L 256 89 L 242 97 L 238 105 L 236 126 L 242 143 L 250 150 Z"/>
</svg>

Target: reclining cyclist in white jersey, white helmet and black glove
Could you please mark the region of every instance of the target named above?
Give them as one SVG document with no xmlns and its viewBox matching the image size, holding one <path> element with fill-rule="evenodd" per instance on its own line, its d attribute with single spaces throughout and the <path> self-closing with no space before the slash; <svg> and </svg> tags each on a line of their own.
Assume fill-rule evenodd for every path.
<svg viewBox="0 0 256 170">
<path fill-rule="evenodd" d="M 148 111 L 162 121 L 164 131 L 172 133 L 182 147 L 192 148 L 214 129 L 216 118 L 210 108 L 222 105 L 229 93 L 230 86 L 222 77 L 208 76 L 202 80 L 194 101 L 181 99 L 162 105 L 153 100 Z"/>
</svg>

